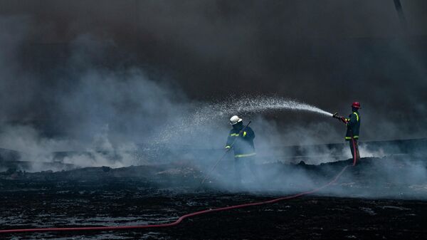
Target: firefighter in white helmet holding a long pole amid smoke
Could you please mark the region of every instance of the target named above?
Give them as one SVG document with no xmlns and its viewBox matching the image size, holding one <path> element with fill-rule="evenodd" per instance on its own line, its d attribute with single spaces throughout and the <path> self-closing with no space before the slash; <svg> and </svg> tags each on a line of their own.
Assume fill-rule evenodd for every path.
<svg viewBox="0 0 427 240">
<path fill-rule="evenodd" d="M 253 145 L 253 139 L 255 133 L 251 127 L 243 126 L 243 120 L 238 116 L 234 115 L 230 118 L 230 124 L 233 129 L 228 134 L 226 143 L 226 150 L 233 149 L 234 152 L 234 177 L 236 186 L 241 185 L 241 172 L 243 166 L 246 165 L 251 169 L 255 178 L 258 180 L 258 175 L 255 169 L 255 147 Z"/>
</svg>

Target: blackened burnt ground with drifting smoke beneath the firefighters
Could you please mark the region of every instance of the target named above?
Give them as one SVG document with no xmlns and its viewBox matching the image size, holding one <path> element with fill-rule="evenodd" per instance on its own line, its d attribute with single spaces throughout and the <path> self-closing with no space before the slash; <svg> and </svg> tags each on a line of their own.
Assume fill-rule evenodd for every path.
<svg viewBox="0 0 427 240">
<path fill-rule="evenodd" d="M 0 239 L 426 239 L 427 182 L 422 175 L 426 161 L 410 159 L 364 158 L 315 195 L 196 216 L 169 229 L 4 234 Z M 267 184 L 250 192 L 227 188 L 221 175 L 196 191 L 203 174 L 183 163 L 2 172 L 0 229 L 174 221 L 189 212 L 258 202 L 320 186 L 349 163 L 351 160 L 260 165 L 265 172 L 274 171 L 266 174 Z M 312 186 L 292 181 L 302 173 L 312 179 Z"/>
</svg>

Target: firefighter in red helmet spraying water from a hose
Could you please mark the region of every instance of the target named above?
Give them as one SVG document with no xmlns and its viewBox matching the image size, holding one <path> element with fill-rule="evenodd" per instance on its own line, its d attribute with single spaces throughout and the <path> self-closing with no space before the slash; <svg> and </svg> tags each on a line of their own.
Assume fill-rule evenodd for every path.
<svg viewBox="0 0 427 240">
<path fill-rule="evenodd" d="M 352 114 L 349 115 L 349 118 L 339 117 L 337 113 L 333 115 L 334 118 L 338 118 L 345 125 L 347 125 L 347 133 L 345 135 L 345 140 L 349 141 L 350 151 L 352 151 L 352 157 L 356 155 L 356 159 L 360 159 L 359 155 L 359 145 L 357 141 L 359 140 L 359 128 L 360 128 L 360 103 L 354 102 L 352 104 Z"/>
</svg>

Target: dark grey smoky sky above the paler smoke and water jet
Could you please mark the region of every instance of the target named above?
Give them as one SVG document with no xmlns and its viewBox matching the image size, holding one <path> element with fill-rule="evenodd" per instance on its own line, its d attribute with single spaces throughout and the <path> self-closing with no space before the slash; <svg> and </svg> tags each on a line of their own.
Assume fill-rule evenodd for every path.
<svg viewBox="0 0 427 240">
<path fill-rule="evenodd" d="M 52 118 L 55 100 L 38 91 L 73 88 L 60 78 L 90 36 L 91 64 L 139 66 L 190 100 L 278 95 L 343 114 L 359 100 L 371 129 L 384 133 L 369 139 L 426 137 L 427 1 L 401 4 L 406 27 L 393 0 L 0 0 L 1 27 L 21 36 L 2 54 L 38 76 L 23 81 L 32 97 L 11 103 L 7 120 Z M 17 87 L 7 86 L 10 99 Z"/>
</svg>

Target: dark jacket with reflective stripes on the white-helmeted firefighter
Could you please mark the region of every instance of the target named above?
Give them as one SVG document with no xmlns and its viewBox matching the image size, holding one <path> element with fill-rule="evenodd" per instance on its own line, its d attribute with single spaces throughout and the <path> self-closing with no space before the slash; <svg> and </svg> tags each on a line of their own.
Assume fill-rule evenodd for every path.
<svg viewBox="0 0 427 240">
<path fill-rule="evenodd" d="M 255 147 L 253 146 L 253 139 L 255 138 L 255 133 L 251 127 L 246 127 L 245 130 L 239 134 L 240 131 L 241 130 L 234 128 L 230 130 L 227 138 L 226 148 L 233 147 L 234 157 L 254 156 Z"/>
</svg>

